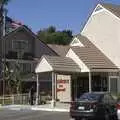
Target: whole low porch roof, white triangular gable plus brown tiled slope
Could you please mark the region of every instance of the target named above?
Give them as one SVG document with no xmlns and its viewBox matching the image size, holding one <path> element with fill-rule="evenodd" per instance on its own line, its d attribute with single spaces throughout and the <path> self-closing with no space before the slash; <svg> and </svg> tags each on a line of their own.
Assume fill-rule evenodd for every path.
<svg viewBox="0 0 120 120">
<path fill-rule="evenodd" d="M 59 56 L 43 56 L 36 66 L 35 72 L 81 72 L 80 67 L 71 59 Z"/>
</svg>

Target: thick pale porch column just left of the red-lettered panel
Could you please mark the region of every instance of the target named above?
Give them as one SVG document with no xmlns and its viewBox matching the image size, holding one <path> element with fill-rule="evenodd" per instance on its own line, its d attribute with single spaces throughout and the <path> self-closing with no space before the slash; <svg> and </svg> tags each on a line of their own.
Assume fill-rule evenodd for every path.
<svg viewBox="0 0 120 120">
<path fill-rule="evenodd" d="M 55 73 L 52 72 L 52 101 L 51 101 L 51 107 L 55 107 Z"/>
</svg>

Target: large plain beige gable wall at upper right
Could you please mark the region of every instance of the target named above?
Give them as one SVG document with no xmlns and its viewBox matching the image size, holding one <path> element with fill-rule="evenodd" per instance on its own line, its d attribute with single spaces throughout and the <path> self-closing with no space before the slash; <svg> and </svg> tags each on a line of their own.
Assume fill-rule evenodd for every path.
<svg viewBox="0 0 120 120">
<path fill-rule="evenodd" d="M 120 19 L 104 10 L 90 17 L 81 34 L 120 68 Z"/>
</svg>

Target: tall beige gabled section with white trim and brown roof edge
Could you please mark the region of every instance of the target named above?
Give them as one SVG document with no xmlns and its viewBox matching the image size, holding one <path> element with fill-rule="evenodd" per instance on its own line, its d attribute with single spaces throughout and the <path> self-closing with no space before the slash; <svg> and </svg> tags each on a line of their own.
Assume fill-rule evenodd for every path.
<svg viewBox="0 0 120 120">
<path fill-rule="evenodd" d="M 120 5 L 98 4 L 81 34 L 86 36 L 120 69 Z M 120 80 L 117 76 L 116 87 L 120 92 Z"/>
</svg>

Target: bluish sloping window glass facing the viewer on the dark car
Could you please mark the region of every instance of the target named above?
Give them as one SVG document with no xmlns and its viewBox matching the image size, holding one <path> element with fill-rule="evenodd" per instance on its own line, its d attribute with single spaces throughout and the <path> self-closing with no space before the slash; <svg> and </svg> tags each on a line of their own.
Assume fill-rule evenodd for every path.
<svg viewBox="0 0 120 120">
<path fill-rule="evenodd" d="M 80 96 L 78 100 L 83 101 L 83 100 L 89 100 L 89 101 L 97 101 L 100 99 L 100 94 L 97 93 L 84 93 L 83 95 Z"/>
</svg>

